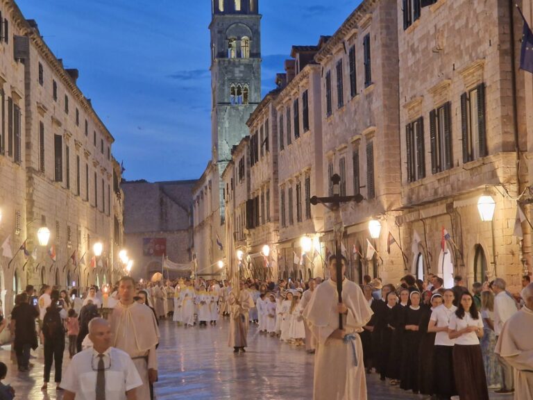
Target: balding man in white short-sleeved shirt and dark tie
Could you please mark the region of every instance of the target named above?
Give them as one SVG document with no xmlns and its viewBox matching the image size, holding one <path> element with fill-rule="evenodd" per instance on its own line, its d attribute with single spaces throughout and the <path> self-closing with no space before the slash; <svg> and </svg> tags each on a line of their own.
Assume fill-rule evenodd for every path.
<svg viewBox="0 0 533 400">
<path fill-rule="evenodd" d="M 61 387 L 64 400 L 137 400 L 142 380 L 128 353 L 111 347 L 111 326 L 102 318 L 89 322 L 93 347 L 72 358 Z"/>
</svg>

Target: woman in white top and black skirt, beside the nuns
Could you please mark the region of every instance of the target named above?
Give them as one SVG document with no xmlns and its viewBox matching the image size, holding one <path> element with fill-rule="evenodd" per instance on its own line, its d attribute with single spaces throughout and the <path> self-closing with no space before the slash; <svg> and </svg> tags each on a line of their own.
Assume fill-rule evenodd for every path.
<svg viewBox="0 0 533 400">
<path fill-rule="evenodd" d="M 445 290 L 442 297 L 443 304 L 431 313 L 428 333 L 437 333 L 433 349 L 434 394 L 437 395 L 438 399 L 450 399 L 457 394 L 457 390 L 455 390 L 453 374 L 453 345 L 455 341 L 448 338 L 448 325 L 457 307 L 453 305 L 454 294 L 451 289 Z"/>
</svg>

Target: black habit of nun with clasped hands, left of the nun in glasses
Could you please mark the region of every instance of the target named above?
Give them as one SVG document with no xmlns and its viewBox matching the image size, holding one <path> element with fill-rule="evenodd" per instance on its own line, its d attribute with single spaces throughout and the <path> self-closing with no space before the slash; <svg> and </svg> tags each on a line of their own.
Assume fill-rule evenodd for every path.
<svg viewBox="0 0 533 400">
<path fill-rule="evenodd" d="M 405 326 L 420 324 L 423 310 L 421 307 L 414 310 L 406 307 L 403 313 L 403 322 L 400 324 L 400 331 L 403 331 L 402 337 L 402 370 L 400 372 L 400 387 L 403 390 L 412 390 L 418 393 L 418 348 L 420 347 L 419 331 L 407 331 Z"/>
</svg>

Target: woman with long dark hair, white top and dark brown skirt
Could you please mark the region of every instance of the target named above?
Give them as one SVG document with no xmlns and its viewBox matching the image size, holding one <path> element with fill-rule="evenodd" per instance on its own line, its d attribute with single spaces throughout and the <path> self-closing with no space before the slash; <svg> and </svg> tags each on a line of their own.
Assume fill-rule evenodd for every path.
<svg viewBox="0 0 533 400">
<path fill-rule="evenodd" d="M 472 294 L 461 295 L 459 306 L 450 319 L 448 336 L 455 340 L 453 369 L 459 398 L 489 400 L 479 340 L 483 336 L 483 321 Z"/>
</svg>

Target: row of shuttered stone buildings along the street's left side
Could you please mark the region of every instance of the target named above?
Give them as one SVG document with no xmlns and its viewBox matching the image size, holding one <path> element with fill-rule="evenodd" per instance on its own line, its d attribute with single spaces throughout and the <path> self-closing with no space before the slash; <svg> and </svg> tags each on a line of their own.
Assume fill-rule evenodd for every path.
<svg viewBox="0 0 533 400">
<path fill-rule="evenodd" d="M 78 70 L 63 67 L 36 22 L 26 20 L 14 1 L 1 1 L 0 11 L 6 216 L 0 229 L 1 240 L 10 237 L 14 255 L 7 259 L 4 252 L 0 261 L 8 310 L 13 294 L 28 283 L 67 288 L 110 282 L 114 138 L 77 87 Z M 37 242 L 42 226 L 51 231 L 46 247 Z M 91 263 L 95 242 L 103 244 L 103 252 Z M 24 243 L 31 256 L 17 251 Z M 84 264 L 78 263 L 82 256 Z"/>
</svg>

